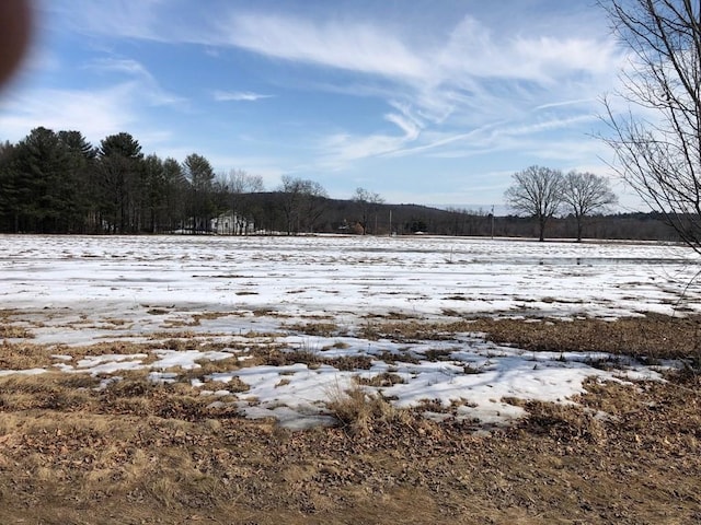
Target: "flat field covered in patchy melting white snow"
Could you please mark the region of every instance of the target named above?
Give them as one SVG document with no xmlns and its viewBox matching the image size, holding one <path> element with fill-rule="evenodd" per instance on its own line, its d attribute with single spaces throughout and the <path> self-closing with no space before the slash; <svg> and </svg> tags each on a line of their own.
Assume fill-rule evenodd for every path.
<svg viewBox="0 0 701 525">
<path fill-rule="evenodd" d="M 368 392 L 379 390 L 399 406 L 456 401 L 458 417 L 487 423 L 522 413 L 503 397 L 566 401 L 582 392 L 588 376 L 656 377 L 632 362 L 611 373 L 587 364 L 605 355 L 533 354 L 471 332 L 411 343 L 364 339 L 359 328 L 376 319 L 613 319 L 701 310 L 701 288 L 688 285 L 698 258 L 683 247 L 658 244 L 429 236 L 0 236 L 0 300 L 8 323 L 26 328 L 32 343 L 55 345 L 54 368 L 67 373 L 92 373 L 107 382 L 124 370 L 148 369 L 153 381 L 174 381 L 179 370 L 197 369 L 207 360 L 237 355 L 244 363 L 246 345 L 274 343 L 327 360 L 371 358 L 368 370 L 304 363 L 237 366 L 192 380 L 203 395 L 217 399 L 212 402 L 235 402 L 250 417 L 275 415 L 290 427 L 324 421 L 324 401 L 357 377 L 369 381 L 382 373 L 402 382 L 367 386 Z M 296 328 L 310 323 L 325 323 L 334 332 L 306 335 Z M 169 348 L 174 337 L 202 341 L 203 350 Z M 154 338 L 162 348 L 149 354 L 74 360 L 70 352 L 101 341 Z M 206 350 L 212 341 L 220 349 Z M 427 351 L 448 359 L 429 359 Z M 387 352 L 398 359 L 387 362 Z M 402 361 L 402 355 L 412 359 Z M 250 389 L 229 392 L 234 377 Z"/>
</svg>

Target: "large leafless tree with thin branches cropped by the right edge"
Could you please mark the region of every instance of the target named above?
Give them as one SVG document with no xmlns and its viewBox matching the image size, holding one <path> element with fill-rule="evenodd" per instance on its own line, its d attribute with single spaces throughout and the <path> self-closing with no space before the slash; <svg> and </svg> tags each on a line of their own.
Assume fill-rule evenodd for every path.
<svg viewBox="0 0 701 525">
<path fill-rule="evenodd" d="M 631 51 L 623 89 L 605 101 L 614 168 L 701 253 L 701 1 L 599 4 Z"/>
</svg>

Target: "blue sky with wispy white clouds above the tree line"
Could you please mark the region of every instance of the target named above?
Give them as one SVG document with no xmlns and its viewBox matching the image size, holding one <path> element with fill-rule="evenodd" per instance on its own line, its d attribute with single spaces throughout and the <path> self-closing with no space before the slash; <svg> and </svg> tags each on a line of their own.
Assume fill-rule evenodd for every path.
<svg viewBox="0 0 701 525">
<path fill-rule="evenodd" d="M 623 49 L 594 0 L 43 0 L 0 140 L 126 131 L 279 187 L 503 207 L 531 165 L 611 176 Z"/>
</svg>

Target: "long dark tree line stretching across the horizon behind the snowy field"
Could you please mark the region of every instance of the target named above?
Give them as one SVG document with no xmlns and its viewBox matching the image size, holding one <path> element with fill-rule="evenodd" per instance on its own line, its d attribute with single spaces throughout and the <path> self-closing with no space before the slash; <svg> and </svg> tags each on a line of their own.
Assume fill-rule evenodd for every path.
<svg viewBox="0 0 701 525">
<path fill-rule="evenodd" d="M 535 220 L 492 217 L 491 209 L 389 205 L 361 188 L 353 199 L 331 199 L 318 183 L 292 177 L 265 191 L 261 177 L 243 171 L 215 174 L 196 153 L 184 162 L 145 156 L 124 132 L 93 147 L 79 131 L 36 128 L 15 144 L 0 143 L 1 233 L 538 235 Z M 678 240 L 655 213 L 590 217 L 583 233 L 585 238 Z M 549 238 L 575 236 L 573 218 L 548 223 Z"/>
</svg>

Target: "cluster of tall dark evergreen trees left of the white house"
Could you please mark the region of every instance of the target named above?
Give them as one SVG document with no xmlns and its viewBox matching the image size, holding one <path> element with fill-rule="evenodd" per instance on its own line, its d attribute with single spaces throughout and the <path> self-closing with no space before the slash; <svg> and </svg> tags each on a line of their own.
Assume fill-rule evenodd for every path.
<svg viewBox="0 0 701 525">
<path fill-rule="evenodd" d="M 137 233 L 174 229 L 206 213 L 198 195 L 211 166 L 145 156 L 128 133 L 93 147 L 80 131 L 38 127 L 0 144 L 0 228 L 28 233 Z M 187 211 L 185 208 L 188 208 Z"/>
</svg>

